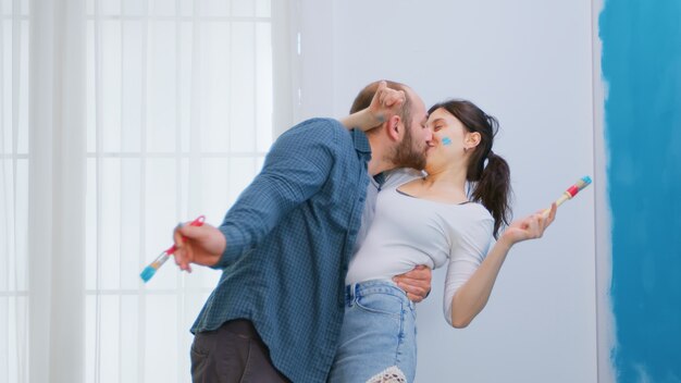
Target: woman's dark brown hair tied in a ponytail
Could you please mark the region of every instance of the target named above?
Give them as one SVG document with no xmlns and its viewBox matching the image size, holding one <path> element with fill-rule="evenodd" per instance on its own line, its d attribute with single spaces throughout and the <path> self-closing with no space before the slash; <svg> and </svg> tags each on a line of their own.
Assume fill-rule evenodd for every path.
<svg viewBox="0 0 681 383">
<path fill-rule="evenodd" d="M 469 158 L 466 180 L 473 188 L 471 200 L 482 203 L 494 218 L 494 237 L 498 238 L 502 224 L 508 225 L 511 217 L 510 170 L 506 160 L 492 151 L 499 123 L 467 100 L 453 99 L 436 103 L 428 114 L 441 108 L 457 118 L 468 132 L 480 133 L 480 144 L 472 148 Z"/>
</svg>

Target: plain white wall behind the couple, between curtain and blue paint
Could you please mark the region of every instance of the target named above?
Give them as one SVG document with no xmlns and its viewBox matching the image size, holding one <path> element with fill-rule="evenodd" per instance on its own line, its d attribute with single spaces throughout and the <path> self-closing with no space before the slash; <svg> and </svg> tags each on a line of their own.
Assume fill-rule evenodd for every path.
<svg viewBox="0 0 681 383">
<path fill-rule="evenodd" d="M 324 4 L 320 4 L 324 3 Z M 300 0 L 299 118 L 343 115 L 377 78 L 500 121 L 516 217 L 594 172 L 591 1 Z M 598 180 L 595 180 L 597 183 Z M 419 306 L 418 382 L 596 382 L 594 188 L 520 244 L 466 330 L 442 314 L 444 270 Z"/>
</svg>

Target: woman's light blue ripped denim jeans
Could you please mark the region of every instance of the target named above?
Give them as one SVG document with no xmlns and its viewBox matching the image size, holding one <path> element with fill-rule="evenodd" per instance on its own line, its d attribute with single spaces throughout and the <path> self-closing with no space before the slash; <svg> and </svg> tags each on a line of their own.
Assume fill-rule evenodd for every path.
<svg viewBox="0 0 681 383">
<path fill-rule="evenodd" d="M 345 317 L 329 382 L 364 383 L 391 367 L 413 382 L 414 304 L 391 281 L 367 281 L 345 289 Z"/>
</svg>

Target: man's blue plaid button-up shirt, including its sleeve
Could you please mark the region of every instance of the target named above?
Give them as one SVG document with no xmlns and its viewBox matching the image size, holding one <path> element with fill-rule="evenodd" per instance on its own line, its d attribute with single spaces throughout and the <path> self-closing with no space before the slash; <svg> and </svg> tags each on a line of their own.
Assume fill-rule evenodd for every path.
<svg viewBox="0 0 681 383">
<path fill-rule="evenodd" d="M 249 319 L 282 373 L 324 382 L 370 159 L 367 136 L 335 120 L 305 121 L 284 133 L 220 226 L 227 240 L 215 265 L 222 277 L 191 332 Z"/>
</svg>

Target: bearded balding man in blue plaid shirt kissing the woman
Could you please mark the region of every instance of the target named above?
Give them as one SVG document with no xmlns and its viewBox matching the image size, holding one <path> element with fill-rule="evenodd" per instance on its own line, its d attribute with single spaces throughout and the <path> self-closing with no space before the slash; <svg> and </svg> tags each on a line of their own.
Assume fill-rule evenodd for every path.
<svg viewBox="0 0 681 383">
<path fill-rule="evenodd" d="M 380 188 L 373 177 L 397 166 L 422 168 L 432 138 L 421 98 L 403 84 L 388 85 L 405 98 L 370 134 L 348 133 L 335 120 L 305 121 L 274 143 L 220 227 L 175 231 L 182 270 L 190 263 L 223 270 L 191 328 L 195 381 L 326 379 L 347 265 Z M 374 83 L 360 97 L 385 86 Z M 403 282 L 416 277 L 417 286 L 405 288 L 422 299 L 430 271 L 412 273 Z"/>
</svg>

